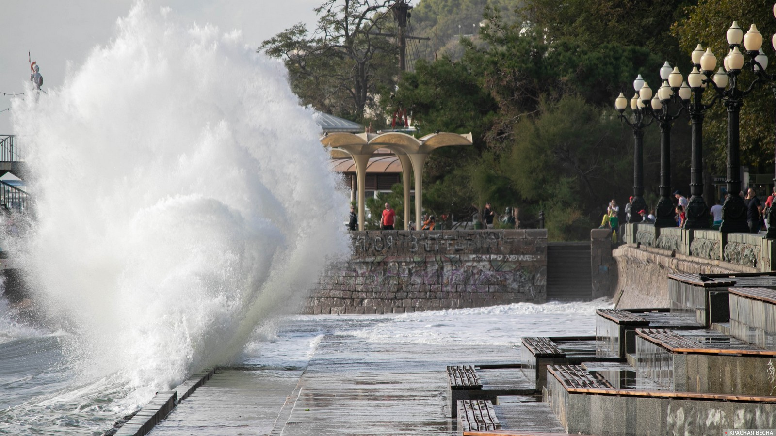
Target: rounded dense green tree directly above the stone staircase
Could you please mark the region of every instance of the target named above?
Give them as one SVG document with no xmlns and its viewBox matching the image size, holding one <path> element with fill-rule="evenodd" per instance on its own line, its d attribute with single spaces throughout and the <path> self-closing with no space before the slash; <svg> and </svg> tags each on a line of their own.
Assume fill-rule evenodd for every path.
<svg viewBox="0 0 776 436">
<path fill-rule="evenodd" d="M 611 110 L 573 95 L 545 100 L 540 113 L 522 119 L 515 132 L 501 171 L 511 178 L 521 206 L 544 210 L 551 239 L 587 239 L 608 199 L 627 196 L 632 149 L 622 147 L 628 137 Z"/>
</svg>

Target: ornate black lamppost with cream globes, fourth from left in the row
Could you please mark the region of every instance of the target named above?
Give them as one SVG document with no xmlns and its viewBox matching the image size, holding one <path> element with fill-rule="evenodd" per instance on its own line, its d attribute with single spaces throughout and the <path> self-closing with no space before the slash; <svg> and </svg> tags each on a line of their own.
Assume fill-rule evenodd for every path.
<svg viewBox="0 0 776 436">
<path fill-rule="evenodd" d="M 753 33 L 754 32 L 754 33 Z M 756 33 L 756 35 L 755 35 Z M 724 68 L 714 72 L 717 64 L 717 58 L 711 49 L 706 49 L 705 54 L 700 59 L 701 72 L 705 74 L 706 83 L 712 85 L 715 92 L 722 97 L 722 103 L 728 112 L 727 128 L 727 196 L 722 205 L 722 225 L 719 231 L 723 233 L 748 232 L 747 225 L 747 206 L 743 199 L 738 195 L 741 190 L 740 181 L 740 111 L 743 105 L 743 99 L 752 92 L 754 85 L 760 81 L 757 76 L 745 89 L 738 88 L 738 75 L 744 66 L 743 54 L 739 47 L 743 38 L 743 30 L 737 22 L 727 31 L 727 41 L 730 47 L 730 53 L 725 57 Z M 757 42 L 759 36 L 759 43 Z M 762 35 L 757 32 L 757 27 L 752 25 L 752 29 L 747 32 L 747 53 L 753 53 L 757 56 L 762 46 Z M 752 56 L 752 57 L 754 57 Z M 750 61 L 750 64 L 753 64 Z M 729 85 L 729 86 L 728 86 Z"/>
</svg>

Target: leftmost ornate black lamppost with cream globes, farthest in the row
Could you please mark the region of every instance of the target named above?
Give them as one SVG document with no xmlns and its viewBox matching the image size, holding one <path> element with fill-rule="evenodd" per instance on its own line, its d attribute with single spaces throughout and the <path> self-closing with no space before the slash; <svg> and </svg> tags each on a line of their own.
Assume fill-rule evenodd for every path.
<svg viewBox="0 0 776 436">
<path fill-rule="evenodd" d="M 633 112 L 632 119 L 624 115 L 628 100 L 625 99 L 622 92 L 615 100 L 615 108 L 620 112 L 619 118 L 633 130 L 633 202 L 629 223 L 638 223 L 642 217 L 635 212 L 646 209 L 646 201 L 644 201 L 644 129 L 653 123 L 654 118 L 650 117 L 649 123 L 645 122 L 646 115 L 650 110 L 647 105 L 652 99 L 652 89 L 641 78 L 641 74 L 633 81 L 633 89 L 636 90 L 636 94 L 630 100 Z"/>
</svg>

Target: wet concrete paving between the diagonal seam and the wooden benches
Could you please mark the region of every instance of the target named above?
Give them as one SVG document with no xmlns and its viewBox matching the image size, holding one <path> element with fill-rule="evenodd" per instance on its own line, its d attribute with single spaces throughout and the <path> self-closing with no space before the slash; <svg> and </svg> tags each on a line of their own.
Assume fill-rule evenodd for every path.
<svg viewBox="0 0 776 436">
<path fill-rule="evenodd" d="M 457 434 L 449 418 L 450 364 L 516 363 L 514 348 L 321 341 L 300 380 L 285 435 Z"/>
</svg>

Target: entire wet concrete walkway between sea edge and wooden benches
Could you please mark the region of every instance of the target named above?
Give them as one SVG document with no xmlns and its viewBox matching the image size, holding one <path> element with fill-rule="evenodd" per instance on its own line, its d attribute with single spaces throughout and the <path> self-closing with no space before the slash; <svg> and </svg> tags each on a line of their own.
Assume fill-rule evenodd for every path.
<svg viewBox="0 0 776 436">
<path fill-rule="evenodd" d="M 518 363 L 516 348 L 326 334 L 301 369 L 220 370 L 152 436 L 456 434 L 446 365 Z"/>
</svg>

